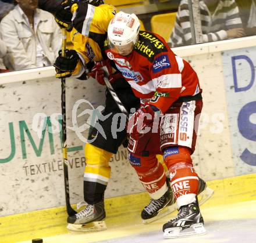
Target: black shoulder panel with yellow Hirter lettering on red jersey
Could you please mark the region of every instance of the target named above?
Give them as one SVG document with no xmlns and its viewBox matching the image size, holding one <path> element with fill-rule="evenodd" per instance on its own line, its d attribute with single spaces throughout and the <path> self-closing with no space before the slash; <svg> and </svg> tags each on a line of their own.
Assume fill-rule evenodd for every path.
<svg viewBox="0 0 256 243">
<path fill-rule="evenodd" d="M 167 44 L 163 38 L 148 31 L 140 31 L 134 49 L 150 61 L 153 61 L 159 53 L 168 51 Z"/>
</svg>

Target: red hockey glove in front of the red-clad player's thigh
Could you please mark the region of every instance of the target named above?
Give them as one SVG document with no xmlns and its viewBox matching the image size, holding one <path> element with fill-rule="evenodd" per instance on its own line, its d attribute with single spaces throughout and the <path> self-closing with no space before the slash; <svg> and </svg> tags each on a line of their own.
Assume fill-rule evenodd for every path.
<svg viewBox="0 0 256 243">
<path fill-rule="evenodd" d="M 140 137 L 142 137 L 147 130 L 150 132 L 153 125 L 154 116 L 155 111 L 153 110 L 152 106 L 149 104 L 144 104 L 144 106 L 138 108 L 136 113 L 130 117 L 127 125 L 127 133 L 134 140 L 140 139 Z M 150 129 L 146 130 L 146 127 L 150 127 Z"/>
</svg>

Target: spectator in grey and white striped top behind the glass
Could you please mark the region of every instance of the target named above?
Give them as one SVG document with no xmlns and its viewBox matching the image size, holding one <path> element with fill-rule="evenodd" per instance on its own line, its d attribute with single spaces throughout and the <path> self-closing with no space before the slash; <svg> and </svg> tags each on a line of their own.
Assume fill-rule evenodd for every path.
<svg viewBox="0 0 256 243">
<path fill-rule="evenodd" d="M 200 0 L 203 42 L 244 37 L 245 33 L 234 0 Z M 191 45 L 191 24 L 187 0 L 182 0 L 169 42 L 172 47 Z"/>
</svg>

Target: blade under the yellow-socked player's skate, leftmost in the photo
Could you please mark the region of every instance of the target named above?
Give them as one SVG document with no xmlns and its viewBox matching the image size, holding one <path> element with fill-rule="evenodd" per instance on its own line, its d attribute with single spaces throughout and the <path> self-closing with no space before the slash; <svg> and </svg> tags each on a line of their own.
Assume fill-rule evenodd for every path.
<svg viewBox="0 0 256 243">
<path fill-rule="evenodd" d="M 90 232 L 90 231 L 101 231 L 106 230 L 106 223 L 105 221 L 95 221 L 88 224 L 67 224 L 67 229 L 72 231 L 83 231 L 83 232 Z"/>
</svg>

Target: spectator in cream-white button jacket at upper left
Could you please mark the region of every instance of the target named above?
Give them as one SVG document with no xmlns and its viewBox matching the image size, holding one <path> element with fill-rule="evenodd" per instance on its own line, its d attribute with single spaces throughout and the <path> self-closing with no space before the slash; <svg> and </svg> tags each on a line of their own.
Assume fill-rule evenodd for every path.
<svg viewBox="0 0 256 243">
<path fill-rule="evenodd" d="M 1 21 L 3 41 L 12 55 L 13 69 L 50 66 L 61 48 L 61 31 L 51 13 L 37 9 L 38 0 L 18 3 Z"/>
</svg>

